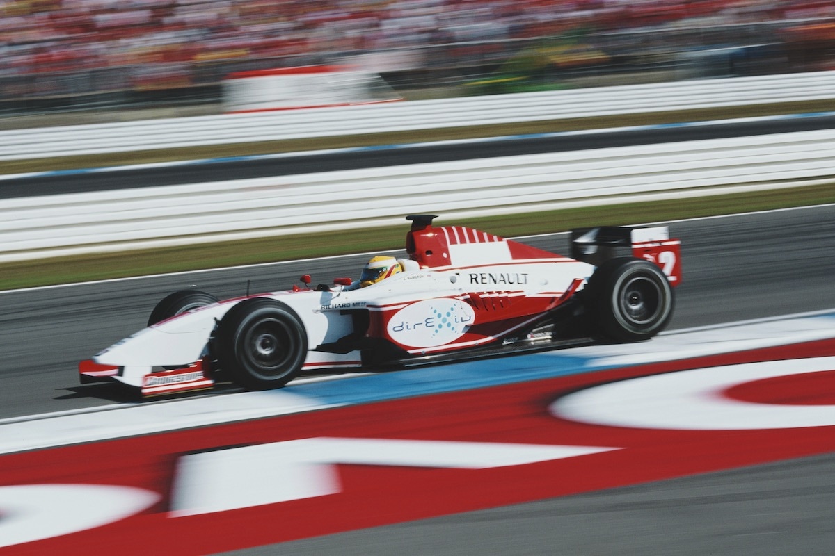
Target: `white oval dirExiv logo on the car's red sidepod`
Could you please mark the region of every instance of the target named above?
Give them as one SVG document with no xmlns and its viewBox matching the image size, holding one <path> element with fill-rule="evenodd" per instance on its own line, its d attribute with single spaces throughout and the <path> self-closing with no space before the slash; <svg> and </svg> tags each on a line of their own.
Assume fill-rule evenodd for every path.
<svg viewBox="0 0 835 556">
<path fill-rule="evenodd" d="M 427 299 L 412 303 L 388 321 L 390 338 L 412 348 L 430 348 L 461 338 L 475 313 L 458 299 Z"/>
</svg>

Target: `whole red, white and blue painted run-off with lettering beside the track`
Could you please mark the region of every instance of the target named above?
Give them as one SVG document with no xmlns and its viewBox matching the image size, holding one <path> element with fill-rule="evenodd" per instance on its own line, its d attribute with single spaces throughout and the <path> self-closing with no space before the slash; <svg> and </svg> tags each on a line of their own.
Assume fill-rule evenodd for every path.
<svg viewBox="0 0 835 556">
<path fill-rule="evenodd" d="M 0 553 L 215 553 L 829 453 L 832 337 L 823 313 L 4 423 Z"/>
</svg>

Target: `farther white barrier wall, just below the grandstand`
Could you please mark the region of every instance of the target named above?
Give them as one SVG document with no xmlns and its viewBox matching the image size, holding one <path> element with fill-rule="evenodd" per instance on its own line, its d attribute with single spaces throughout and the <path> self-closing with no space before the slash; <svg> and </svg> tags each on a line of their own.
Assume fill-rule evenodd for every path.
<svg viewBox="0 0 835 556">
<path fill-rule="evenodd" d="M 835 72 L 0 132 L 0 161 L 835 98 Z"/>
</svg>

